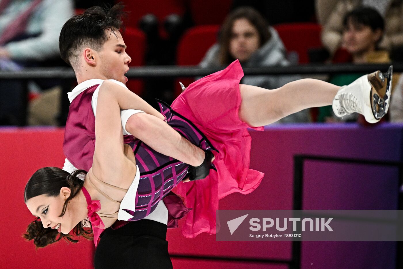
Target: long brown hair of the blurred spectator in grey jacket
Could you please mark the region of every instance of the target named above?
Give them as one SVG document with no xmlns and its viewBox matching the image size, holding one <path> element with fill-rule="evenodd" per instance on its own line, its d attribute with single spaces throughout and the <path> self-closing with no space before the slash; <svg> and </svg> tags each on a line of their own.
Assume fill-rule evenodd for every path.
<svg viewBox="0 0 403 269">
<path fill-rule="evenodd" d="M 226 17 L 220 30 L 219 62 L 221 65 L 228 65 L 235 60 L 229 52 L 229 44 L 231 41 L 232 28 L 237 19 L 247 19 L 249 23 L 256 28 L 259 33 L 259 47 L 271 38 L 268 23 L 258 11 L 246 6 L 237 8 Z"/>
</svg>

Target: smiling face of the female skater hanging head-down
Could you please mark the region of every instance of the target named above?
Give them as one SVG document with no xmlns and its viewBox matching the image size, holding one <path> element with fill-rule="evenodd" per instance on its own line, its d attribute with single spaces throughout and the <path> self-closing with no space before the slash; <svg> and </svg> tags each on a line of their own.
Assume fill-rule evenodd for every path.
<svg viewBox="0 0 403 269">
<path fill-rule="evenodd" d="M 62 213 L 63 204 L 69 196 L 70 189 L 63 187 L 60 189 L 58 196 L 52 197 L 42 194 L 28 199 L 26 204 L 32 215 L 40 217 L 45 228 L 58 228 L 58 232 L 69 234 L 79 223 L 79 221 L 75 221 L 74 215 L 69 211 L 70 204 L 67 206 L 63 217 L 59 217 L 60 213 Z"/>
</svg>

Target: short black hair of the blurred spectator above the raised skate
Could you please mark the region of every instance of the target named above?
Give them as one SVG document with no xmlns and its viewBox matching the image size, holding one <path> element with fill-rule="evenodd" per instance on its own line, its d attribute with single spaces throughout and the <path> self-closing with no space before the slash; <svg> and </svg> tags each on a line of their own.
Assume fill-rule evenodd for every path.
<svg viewBox="0 0 403 269">
<path fill-rule="evenodd" d="M 360 6 L 347 13 L 343 19 L 343 26 L 347 27 L 349 23 L 353 25 L 369 26 L 372 31 L 380 29 L 382 33 L 385 30 L 384 19 L 378 11 L 370 7 Z M 382 37 L 376 43 L 379 44 L 381 40 Z"/>
</svg>

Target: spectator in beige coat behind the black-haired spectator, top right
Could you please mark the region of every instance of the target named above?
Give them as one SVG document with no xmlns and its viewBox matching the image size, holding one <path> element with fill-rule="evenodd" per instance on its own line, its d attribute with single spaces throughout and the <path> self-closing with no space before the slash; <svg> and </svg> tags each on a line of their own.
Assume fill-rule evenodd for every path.
<svg viewBox="0 0 403 269">
<path fill-rule="evenodd" d="M 328 0 L 319 1 L 325 1 L 323 5 L 328 2 Z M 341 46 L 343 18 L 360 5 L 376 9 L 386 22 L 385 35 L 379 44 L 380 48 L 391 50 L 394 47 L 403 46 L 403 0 L 338 0 L 322 31 L 322 43 L 330 54 L 334 54 Z"/>
</svg>

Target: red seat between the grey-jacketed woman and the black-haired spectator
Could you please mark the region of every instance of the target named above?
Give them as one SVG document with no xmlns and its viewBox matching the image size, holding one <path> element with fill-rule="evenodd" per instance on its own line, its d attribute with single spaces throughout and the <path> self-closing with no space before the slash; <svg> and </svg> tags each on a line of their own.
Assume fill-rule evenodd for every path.
<svg viewBox="0 0 403 269">
<path fill-rule="evenodd" d="M 320 32 L 322 28 L 316 23 L 284 23 L 274 25 L 283 40 L 287 51 L 299 55 L 299 63 L 309 63 L 308 50 L 322 47 Z"/>
</svg>

